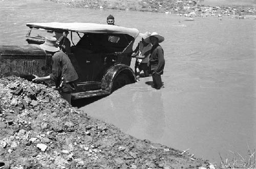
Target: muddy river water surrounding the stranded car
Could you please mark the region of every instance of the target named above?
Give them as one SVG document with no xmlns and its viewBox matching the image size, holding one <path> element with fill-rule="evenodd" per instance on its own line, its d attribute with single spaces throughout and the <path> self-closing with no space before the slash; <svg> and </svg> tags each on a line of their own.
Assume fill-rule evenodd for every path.
<svg viewBox="0 0 256 169">
<path fill-rule="evenodd" d="M 256 146 L 256 29 L 254 17 L 218 20 L 163 13 L 67 8 L 39 0 L 0 1 L 0 45 L 26 44 L 27 22 L 105 23 L 165 37 L 164 88 L 141 78 L 80 109 L 140 139 L 212 162 L 245 156 Z M 139 40 L 139 39 L 138 39 Z M 135 44 L 137 44 L 138 40 Z M 135 46 L 134 46 L 135 47 Z M 134 61 L 132 61 L 134 67 Z M 248 146 L 248 147 L 247 147 Z"/>
</svg>

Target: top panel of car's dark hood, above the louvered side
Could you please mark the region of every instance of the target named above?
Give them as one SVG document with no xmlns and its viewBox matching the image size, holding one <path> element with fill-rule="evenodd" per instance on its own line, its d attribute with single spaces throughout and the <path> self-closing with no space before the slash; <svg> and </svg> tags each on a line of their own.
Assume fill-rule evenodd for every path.
<svg viewBox="0 0 256 169">
<path fill-rule="evenodd" d="M 0 45 L 0 56 L 46 56 L 39 45 Z"/>
</svg>

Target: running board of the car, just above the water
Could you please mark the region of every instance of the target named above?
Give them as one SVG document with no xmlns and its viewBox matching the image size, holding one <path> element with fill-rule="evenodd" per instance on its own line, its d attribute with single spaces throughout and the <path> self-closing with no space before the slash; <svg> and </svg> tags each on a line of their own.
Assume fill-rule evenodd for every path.
<svg viewBox="0 0 256 169">
<path fill-rule="evenodd" d="M 105 90 L 91 90 L 91 91 L 83 91 L 78 93 L 72 93 L 71 99 L 77 100 L 77 99 L 83 99 L 83 98 L 91 98 L 94 96 L 101 96 L 101 95 L 108 95 L 111 92 L 105 91 Z"/>
</svg>

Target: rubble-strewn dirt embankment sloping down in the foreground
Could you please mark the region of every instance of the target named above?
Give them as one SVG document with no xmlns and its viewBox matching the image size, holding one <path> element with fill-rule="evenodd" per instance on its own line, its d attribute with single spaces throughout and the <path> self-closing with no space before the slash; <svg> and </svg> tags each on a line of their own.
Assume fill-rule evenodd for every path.
<svg viewBox="0 0 256 169">
<path fill-rule="evenodd" d="M 11 168 L 197 168 L 207 161 L 87 116 L 57 91 L 0 79 L 0 161 Z"/>
</svg>

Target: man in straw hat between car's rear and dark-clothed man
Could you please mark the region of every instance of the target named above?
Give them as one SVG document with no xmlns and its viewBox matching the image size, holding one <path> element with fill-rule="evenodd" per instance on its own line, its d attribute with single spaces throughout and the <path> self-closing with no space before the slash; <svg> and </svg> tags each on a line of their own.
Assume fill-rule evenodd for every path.
<svg viewBox="0 0 256 169">
<path fill-rule="evenodd" d="M 136 57 L 135 62 L 135 75 L 136 78 L 140 77 L 140 72 L 143 70 L 144 76 L 148 77 L 149 72 L 149 61 L 150 61 L 150 52 L 152 49 L 151 43 L 147 43 L 144 41 L 150 33 L 140 33 L 139 36 L 141 37 L 141 41 L 138 43 L 136 49 L 133 52 L 133 56 Z"/>
</svg>

